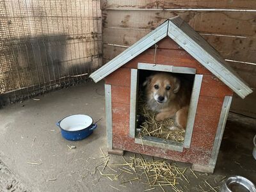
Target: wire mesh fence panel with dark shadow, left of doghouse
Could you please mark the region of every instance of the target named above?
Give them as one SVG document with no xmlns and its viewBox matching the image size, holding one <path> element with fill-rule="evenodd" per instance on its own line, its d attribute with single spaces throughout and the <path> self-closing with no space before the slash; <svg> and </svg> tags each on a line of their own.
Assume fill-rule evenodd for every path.
<svg viewBox="0 0 256 192">
<path fill-rule="evenodd" d="M 0 1 L 0 95 L 68 86 L 101 65 L 99 0 Z"/>
</svg>

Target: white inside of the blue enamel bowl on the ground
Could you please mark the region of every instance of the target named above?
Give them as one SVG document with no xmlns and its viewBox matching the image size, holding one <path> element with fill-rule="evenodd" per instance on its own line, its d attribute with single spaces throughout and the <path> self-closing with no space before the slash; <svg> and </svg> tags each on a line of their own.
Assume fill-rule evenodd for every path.
<svg viewBox="0 0 256 192">
<path fill-rule="evenodd" d="M 79 131 L 92 125 L 92 117 L 88 115 L 71 115 L 60 122 L 61 129 L 65 131 Z"/>
</svg>

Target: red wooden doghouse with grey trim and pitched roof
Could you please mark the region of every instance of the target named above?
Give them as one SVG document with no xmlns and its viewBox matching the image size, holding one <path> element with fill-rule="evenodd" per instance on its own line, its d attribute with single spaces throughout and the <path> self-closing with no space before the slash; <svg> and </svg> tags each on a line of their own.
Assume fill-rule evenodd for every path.
<svg viewBox="0 0 256 192">
<path fill-rule="evenodd" d="M 193 75 L 183 143 L 136 137 L 139 76 L 143 71 Z M 233 92 L 252 93 L 220 54 L 180 17 L 168 19 L 90 76 L 105 79 L 110 153 L 124 150 L 193 164 L 213 172 Z"/>
</svg>

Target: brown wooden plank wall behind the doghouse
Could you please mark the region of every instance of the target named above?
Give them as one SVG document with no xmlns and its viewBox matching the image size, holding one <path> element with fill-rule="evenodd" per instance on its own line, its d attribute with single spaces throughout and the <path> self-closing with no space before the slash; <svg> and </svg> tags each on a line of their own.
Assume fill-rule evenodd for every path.
<svg viewBox="0 0 256 192">
<path fill-rule="evenodd" d="M 104 63 L 180 15 L 256 89 L 255 0 L 103 0 L 101 8 Z M 255 100 L 256 92 L 244 100 L 235 95 L 230 111 L 256 118 Z"/>
</svg>

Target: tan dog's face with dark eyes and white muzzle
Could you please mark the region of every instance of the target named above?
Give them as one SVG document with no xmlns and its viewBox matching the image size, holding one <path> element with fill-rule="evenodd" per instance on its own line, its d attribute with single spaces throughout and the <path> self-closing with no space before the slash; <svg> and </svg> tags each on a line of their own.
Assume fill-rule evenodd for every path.
<svg viewBox="0 0 256 192">
<path fill-rule="evenodd" d="M 148 99 L 164 104 L 172 100 L 175 93 L 179 92 L 180 80 L 168 73 L 158 73 L 147 77 L 143 86 L 147 86 Z"/>
</svg>

